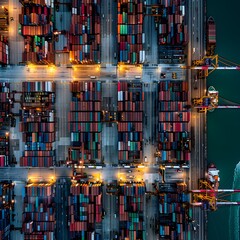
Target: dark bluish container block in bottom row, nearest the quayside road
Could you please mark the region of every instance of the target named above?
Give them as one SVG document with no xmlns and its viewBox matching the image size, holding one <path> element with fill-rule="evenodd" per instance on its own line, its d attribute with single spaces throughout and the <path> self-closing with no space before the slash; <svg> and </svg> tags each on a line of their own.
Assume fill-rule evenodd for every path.
<svg viewBox="0 0 240 240">
<path fill-rule="evenodd" d="M 190 239 L 189 198 L 183 190 L 182 186 L 176 186 L 176 191 L 159 195 L 159 234 L 164 239 Z"/>
</svg>

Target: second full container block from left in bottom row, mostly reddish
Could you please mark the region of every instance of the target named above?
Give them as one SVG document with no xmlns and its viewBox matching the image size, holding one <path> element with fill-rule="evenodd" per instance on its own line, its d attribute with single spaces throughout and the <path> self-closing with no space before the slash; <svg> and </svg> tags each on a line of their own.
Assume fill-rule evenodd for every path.
<svg viewBox="0 0 240 240">
<path fill-rule="evenodd" d="M 72 183 L 68 207 L 70 239 L 100 240 L 96 225 L 102 222 L 101 183 Z"/>
</svg>

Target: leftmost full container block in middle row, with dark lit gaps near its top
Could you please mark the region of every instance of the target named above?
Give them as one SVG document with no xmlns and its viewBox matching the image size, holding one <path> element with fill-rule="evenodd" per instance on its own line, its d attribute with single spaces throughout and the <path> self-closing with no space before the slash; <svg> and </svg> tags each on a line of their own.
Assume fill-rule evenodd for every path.
<svg viewBox="0 0 240 240">
<path fill-rule="evenodd" d="M 20 166 L 50 167 L 55 164 L 55 83 L 22 83 L 22 114 L 19 130 L 23 132 L 24 156 Z"/>
</svg>

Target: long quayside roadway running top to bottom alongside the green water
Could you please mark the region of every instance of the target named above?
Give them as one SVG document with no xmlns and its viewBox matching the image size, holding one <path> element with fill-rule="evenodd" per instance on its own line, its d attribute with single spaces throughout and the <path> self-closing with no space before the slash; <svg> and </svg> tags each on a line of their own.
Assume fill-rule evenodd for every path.
<svg viewBox="0 0 240 240">
<path fill-rule="evenodd" d="M 192 60 L 200 60 L 205 54 L 204 3 L 200 0 L 189 1 L 189 49 L 188 66 Z M 192 98 L 205 94 L 206 79 L 197 79 L 197 71 L 188 71 Z M 192 112 L 192 135 L 194 137 L 190 189 L 198 188 L 198 179 L 204 177 L 206 169 L 206 114 Z M 206 216 L 200 208 L 193 208 L 193 219 L 199 228 L 193 232 L 192 239 L 206 239 Z"/>
</svg>

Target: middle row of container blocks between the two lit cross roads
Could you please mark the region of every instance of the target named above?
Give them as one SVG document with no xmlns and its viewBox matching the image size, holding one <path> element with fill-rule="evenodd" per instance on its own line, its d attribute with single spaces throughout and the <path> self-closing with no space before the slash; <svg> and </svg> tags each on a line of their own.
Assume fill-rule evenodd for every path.
<svg viewBox="0 0 240 240">
<path fill-rule="evenodd" d="M 5 84 L 5 83 L 4 83 Z M 23 102 L 19 129 L 23 132 L 24 154 L 21 166 L 52 166 L 55 161 L 55 83 L 23 82 Z M 72 101 L 69 113 L 71 146 L 84 145 L 84 159 L 101 159 L 101 82 L 72 82 Z M 142 159 L 144 93 L 141 83 L 118 82 L 118 158 L 120 162 Z M 1 97 L 9 94 L 4 85 Z M 189 137 L 190 112 L 188 112 L 188 86 L 184 81 L 161 81 L 159 93 L 158 148 L 162 160 L 190 159 L 190 152 L 183 151 L 183 141 Z M 175 94 L 175 95 L 174 95 Z M 176 100 L 176 95 L 184 96 Z M 4 97 L 3 97 L 4 96 Z M 177 110 L 177 111 L 176 111 Z M 5 114 L 5 112 L 3 112 Z M 6 135 L 2 138 L 6 141 Z M 7 144 L 5 144 L 8 146 Z M 5 151 L 5 149 L 4 149 Z M 5 153 L 4 153 L 5 154 Z M 5 158 L 1 154 L 1 164 Z M 72 151 L 72 160 L 78 161 L 81 153 Z"/>
</svg>

